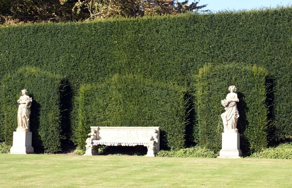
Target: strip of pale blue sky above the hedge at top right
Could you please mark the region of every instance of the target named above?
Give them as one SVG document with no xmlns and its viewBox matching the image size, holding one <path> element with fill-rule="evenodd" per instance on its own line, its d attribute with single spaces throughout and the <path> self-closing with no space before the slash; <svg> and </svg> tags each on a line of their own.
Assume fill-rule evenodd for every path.
<svg viewBox="0 0 292 188">
<path fill-rule="evenodd" d="M 196 0 L 198 1 L 198 0 Z M 193 2 L 189 0 L 189 3 Z M 279 6 L 292 6 L 292 0 L 200 0 L 198 5 L 208 4 L 202 10 L 224 11 L 224 10 L 251 10 L 264 7 L 275 8 Z"/>
</svg>

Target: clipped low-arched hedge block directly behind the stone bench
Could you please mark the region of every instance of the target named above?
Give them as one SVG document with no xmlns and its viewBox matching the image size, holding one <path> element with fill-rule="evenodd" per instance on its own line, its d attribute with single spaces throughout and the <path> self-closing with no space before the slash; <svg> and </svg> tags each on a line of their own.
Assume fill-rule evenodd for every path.
<svg viewBox="0 0 292 188">
<path fill-rule="evenodd" d="M 74 143 L 85 147 L 90 126 L 159 126 L 161 147 L 181 149 L 188 123 L 186 89 L 137 75 L 114 75 L 80 87 Z"/>
</svg>

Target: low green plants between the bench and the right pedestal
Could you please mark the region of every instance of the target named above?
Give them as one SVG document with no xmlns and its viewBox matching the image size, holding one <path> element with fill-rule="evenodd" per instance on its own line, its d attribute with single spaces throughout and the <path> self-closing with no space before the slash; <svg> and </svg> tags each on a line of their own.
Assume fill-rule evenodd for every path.
<svg viewBox="0 0 292 188">
<path fill-rule="evenodd" d="M 215 158 L 217 154 L 206 148 L 195 146 L 191 148 L 184 148 L 181 150 L 161 150 L 156 156 L 158 157 L 209 157 Z"/>
</svg>

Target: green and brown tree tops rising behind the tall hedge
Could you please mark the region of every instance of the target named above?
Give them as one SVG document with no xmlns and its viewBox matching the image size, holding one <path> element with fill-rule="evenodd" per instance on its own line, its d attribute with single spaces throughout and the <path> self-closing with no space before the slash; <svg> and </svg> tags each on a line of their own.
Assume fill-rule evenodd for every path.
<svg viewBox="0 0 292 188">
<path fill-rule="evenodd" d="M 206 6 L 199 0 L 0 0 L 0 24 L 173 15 Z"/>
</svg>

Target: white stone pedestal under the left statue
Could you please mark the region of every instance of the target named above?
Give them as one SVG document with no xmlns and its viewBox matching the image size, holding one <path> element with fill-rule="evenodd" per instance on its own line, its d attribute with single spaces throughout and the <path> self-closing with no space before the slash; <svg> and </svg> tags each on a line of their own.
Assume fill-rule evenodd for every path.
<svg viewBox="0 0 292 188">
<path fill-rule="evenodd" d="M 28 130 L 28 129 L 27 129 Z M 16 131 L 13 132 L 13 146 L 10 154 L 33 154 L 32 132 Z"/>
</svg>

